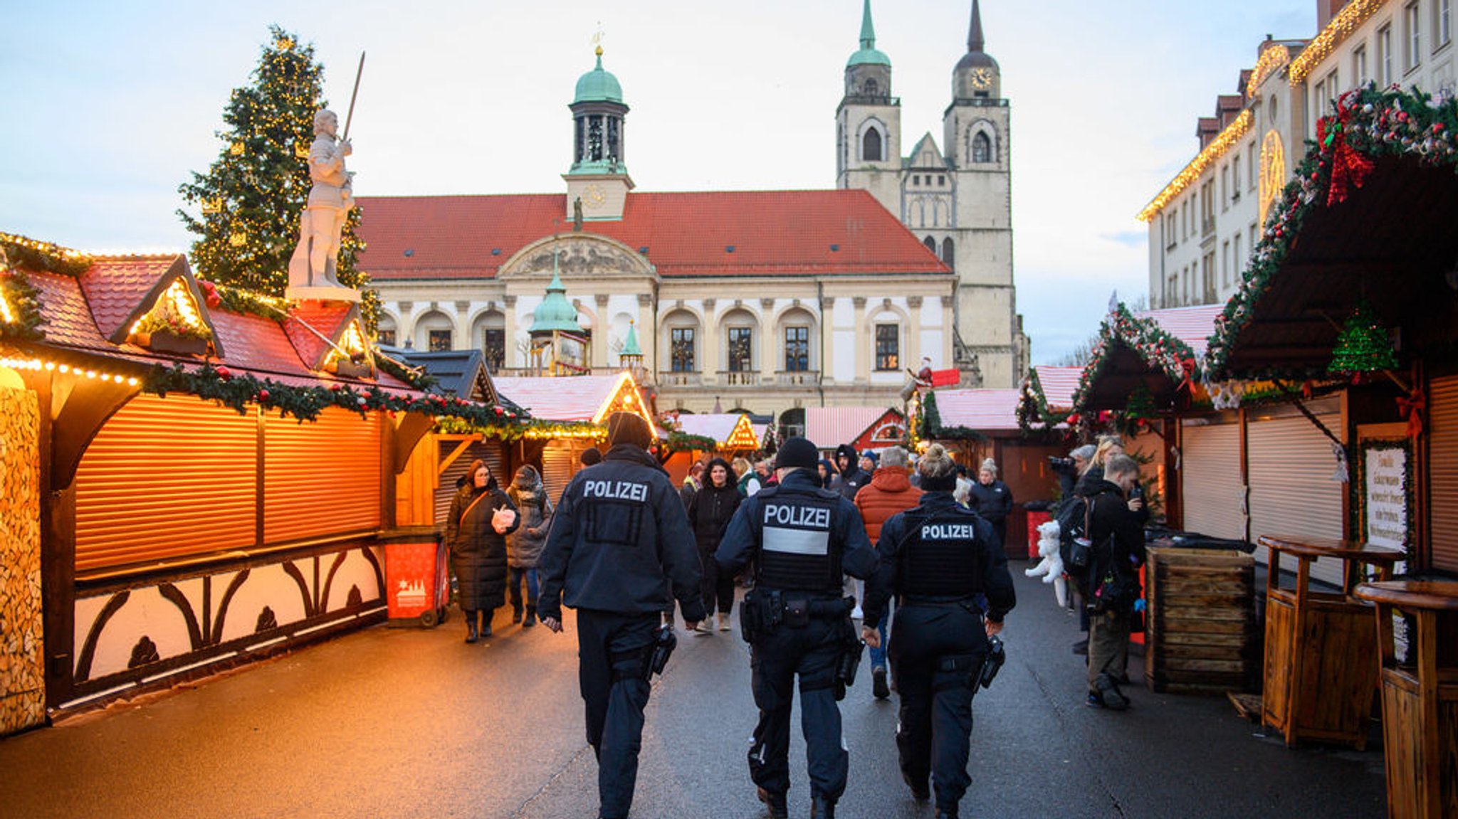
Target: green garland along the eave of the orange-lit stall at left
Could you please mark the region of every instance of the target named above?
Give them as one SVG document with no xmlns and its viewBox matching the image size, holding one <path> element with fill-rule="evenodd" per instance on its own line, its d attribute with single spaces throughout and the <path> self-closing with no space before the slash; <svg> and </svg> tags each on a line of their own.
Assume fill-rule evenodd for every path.
<svg viewBox="0 0 1458 819">
<path fill-rule="evenodd" d="M 226 366 L 203 364 L 190 370 L 182 364 L 174 367 L 152 367 L 141 382 L 141 391 L 159 396 L 169 392 L 195 395 L 232 407 L 239 415 L 248 408 L 262 407 L 293 415 L 300 423 L 313 421 L 328 407 L 338 407 L 366 415 L 370 411 L 424 412 L 436 417 L 468 421 L 480 431 L 490 431 L 503 440 L 522 437 L 531 418 L 500 405 L 488 407 L 443 395 L 407 398 L 385 392 L 378 386 L 356 389 L 353 385 L 292 386 L 273 379 L 260 379 L 249 373 L 235 375 Z"/>
</svg>

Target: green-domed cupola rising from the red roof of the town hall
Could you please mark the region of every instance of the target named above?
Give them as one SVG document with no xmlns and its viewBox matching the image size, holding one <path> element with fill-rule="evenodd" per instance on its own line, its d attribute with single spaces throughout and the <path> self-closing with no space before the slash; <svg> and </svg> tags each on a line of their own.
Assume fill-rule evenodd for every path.
<svg viewBox="0 0 1458 819">
<path fill-rule="evenodd" d="M 577 77 L 572 105 L 573 143 L 567 181 L 567 219 L 623 219 L 633 179 L 624 159 L 623 124 L 628 106 L 623 102 L 618 79 L 598 64 Z"/>
</svg>

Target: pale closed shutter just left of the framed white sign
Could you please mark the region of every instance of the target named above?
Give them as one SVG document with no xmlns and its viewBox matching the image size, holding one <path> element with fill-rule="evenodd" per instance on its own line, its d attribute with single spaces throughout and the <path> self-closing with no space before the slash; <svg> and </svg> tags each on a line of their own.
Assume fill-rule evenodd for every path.
<svg viewBox="0 0 1458 819">
<path fill-rule="evenodd" d="M 1341 414 L 1312 405 L 1321 424 L 1336 434 Z M 1333 479 L 1337 459 L 1331 439 L 1303 415 L 1257 418 L 1247 433 L 1251 468 L 1251 539 L 1261 535 L 1293 538 L 1336 538 L 1343 535 L 1341 495 L 1347 484 Z M 1266 549 L 1255 560 L 1268 563 Z M 1283 563 L 1295 568 L 1295 563 Z M 1341 561 L 1324 558 L 1312 564 L 1311 576 L 1341 584 Z"/>
</svg>

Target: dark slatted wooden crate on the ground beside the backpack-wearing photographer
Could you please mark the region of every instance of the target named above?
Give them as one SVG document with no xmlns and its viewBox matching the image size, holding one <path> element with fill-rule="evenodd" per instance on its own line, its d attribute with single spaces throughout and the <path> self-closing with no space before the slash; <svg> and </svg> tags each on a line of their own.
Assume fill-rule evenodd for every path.
<svg viewBox="0 0 1458 819">
<path fill-rule="evenodd" d="M 1255 560 L 1233 549 L 1152 548 L 1145 683 L 1150 691 L 1252 691 L 1260 670 Z"/>
</svg>

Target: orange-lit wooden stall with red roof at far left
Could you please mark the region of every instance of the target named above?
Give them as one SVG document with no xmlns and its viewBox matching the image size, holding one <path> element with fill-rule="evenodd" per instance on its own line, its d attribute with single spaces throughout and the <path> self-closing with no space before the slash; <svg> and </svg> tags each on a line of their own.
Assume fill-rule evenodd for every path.
<svg viewBox="0 0 1458 819">
<path fill-rule="evenodd" d="M 383 619 L 395 477 L 436 415 L 486 407 L 410 386 L 350 302 L 0 248 L 0 399 L 29 418 L 39 522 L 39 560 L 4 568 L 44 599 L 7 612 L 39 640 L 4 673 L 39 662 L 41 718 Z"/>
</svg>

